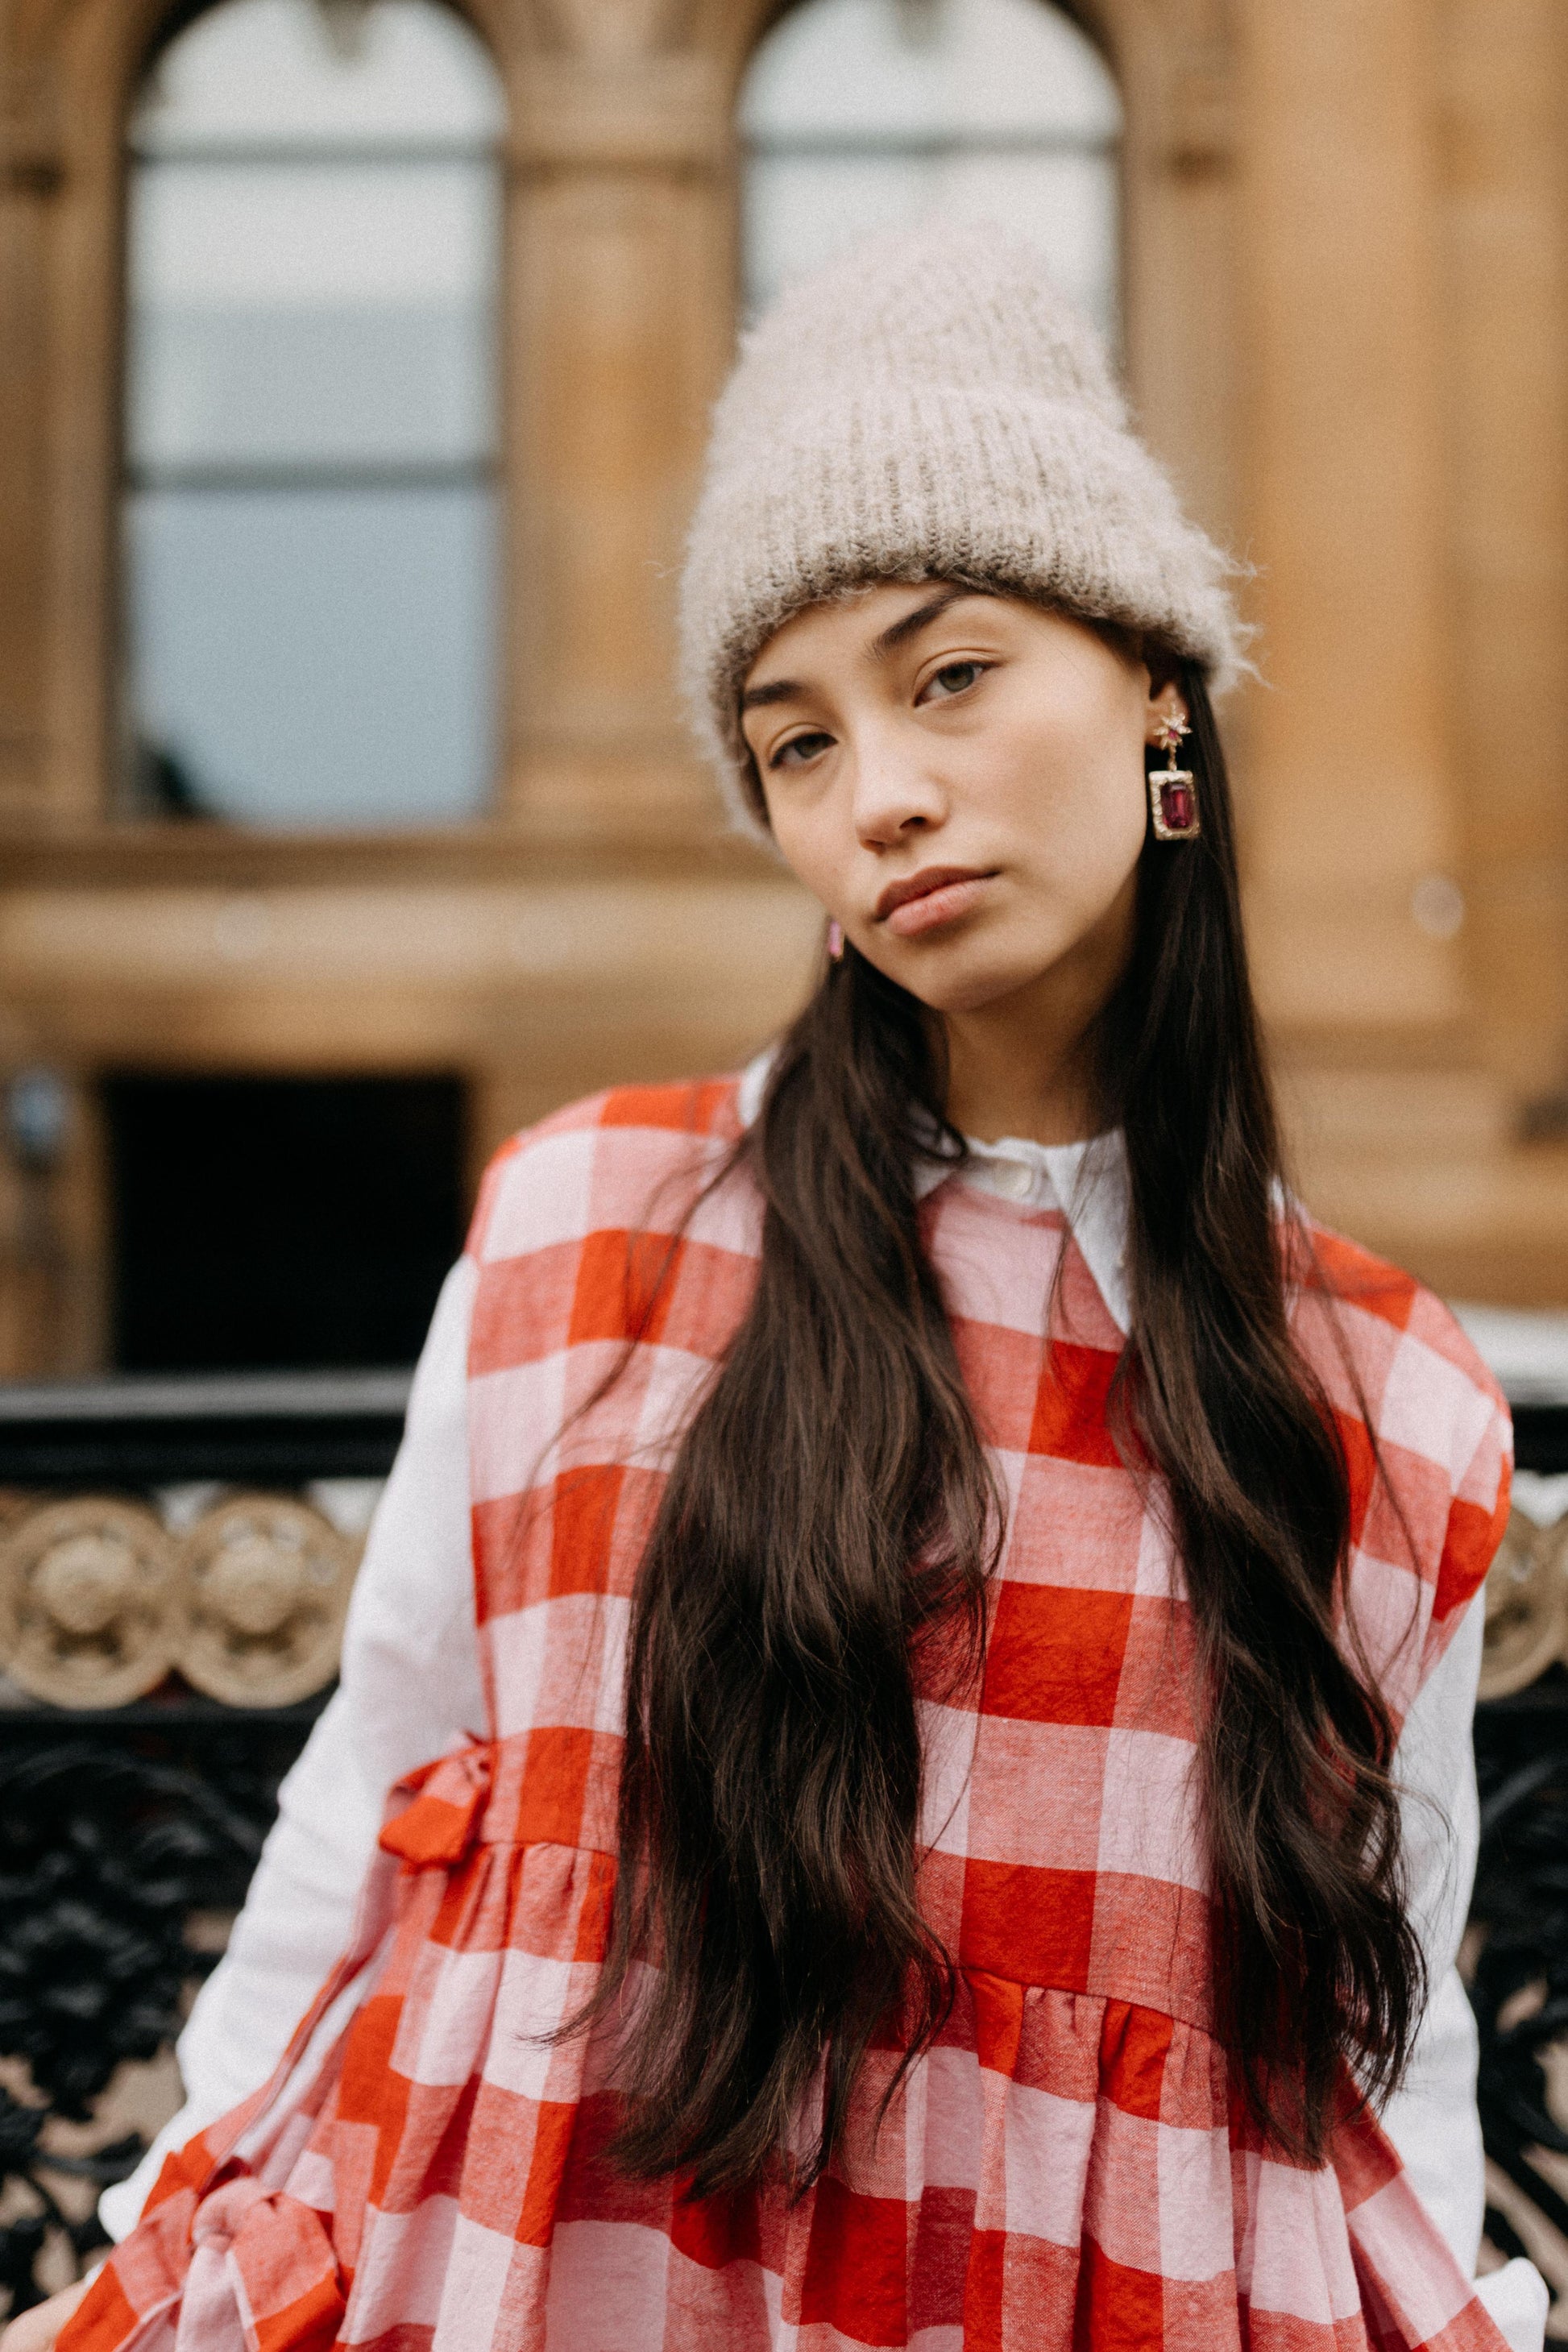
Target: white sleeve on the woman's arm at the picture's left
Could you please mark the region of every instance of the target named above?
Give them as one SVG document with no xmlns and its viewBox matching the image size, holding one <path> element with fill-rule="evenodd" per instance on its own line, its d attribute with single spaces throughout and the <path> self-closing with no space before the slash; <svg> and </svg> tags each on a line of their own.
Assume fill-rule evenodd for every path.
<svg viewBox="0 0 1568 2352">
<path fill-rule="evenodd" d="M 484 1726 L 468 1517 L 475 1282 L 477 1268 L 461 1258 L 442 1287 L 355 1581 L 339 1689 L 277 1792 L 228 1952 L 176 2044 L 186 2105 L 129 2180 L 99 2199 L 115 2239 L 136 2223 L 165 2154 L 277 2065 L 348 1943 L 393 1780 Z"/>
</svg>

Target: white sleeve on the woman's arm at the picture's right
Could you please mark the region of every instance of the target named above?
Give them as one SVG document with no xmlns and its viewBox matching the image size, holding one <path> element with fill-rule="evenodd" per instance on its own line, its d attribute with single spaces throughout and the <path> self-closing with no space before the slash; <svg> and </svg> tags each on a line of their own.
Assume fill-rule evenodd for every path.
<svg viewBox="0 0 1568 2352">
<path fill-rule="evenodd" d="M 1394 1755 L 1410 1867 L 1410 1912 L 1432 1987 L 1410 2070 L 1382 2110 L 1410 2185 L 1467 2279 L 1476 2274 L 1486 2159 L 1476 2114 L 1476 2020 L 1455 1966 L 1476 1875 L 1479 1804 L 1472 1717 L 1486 1592 L 1476 1592 L 1410 1708 Z M 1547 2286 L 1523 2260 L 1476 2281 L 1512 2352 L 1540 2352 Z"/>
</svg>

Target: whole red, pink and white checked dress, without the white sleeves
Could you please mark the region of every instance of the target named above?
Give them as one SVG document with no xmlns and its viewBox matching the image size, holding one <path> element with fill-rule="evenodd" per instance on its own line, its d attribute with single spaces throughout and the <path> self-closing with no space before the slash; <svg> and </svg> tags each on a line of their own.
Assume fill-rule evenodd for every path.
<svg viewBox="0 0 1568 2352">
<path fill-rule="evenodd" d="M 795 2204 L 607 2164 L 609 2039 L 548 2037 L 604 1950 L 637 1559 L 755 1282 L 750 1178 L 689 1214 L 736 1136 L 731 1082 L 623 1089 L 491 1167 L 470 1237 L 489 1738 L 393 1792 L 355 1945 L 280 2074 L 167 2161 L 59 2352 L 1500 2352 L 1352 2098 L 1321 2169 L 1239 2114 L 1190 1616 L 1107 1430 L 1119 1334 L 1056 1211 L 961 1178 L 922 1216 L 1009 1534 L 983 1679 L 924 1710 L 952 2018 L 882 2129 L 896 2053 L 872 2056 L 844 2154 Z M 1434 1298 L 1331 1235 L 1293 1312 L 1352 1463 L 1349 1606 L 1403 1717 L 1500 1538 L 1507 1409 Z"/>
</svg>

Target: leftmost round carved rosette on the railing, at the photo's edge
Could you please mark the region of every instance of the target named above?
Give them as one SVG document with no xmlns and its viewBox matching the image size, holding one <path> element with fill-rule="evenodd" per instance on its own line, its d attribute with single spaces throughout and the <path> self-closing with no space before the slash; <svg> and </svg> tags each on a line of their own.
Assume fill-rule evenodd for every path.
<svg viewBox="0 0 1568 2352">
<path fill-rule="evenodd" d="M 174 1545 L 150 1510 L 75 1496 L 0 1538 L 0 1661 L 56 1708 L 122 1708 L 158 1689 L 183 1635 Z"/>
</svg>

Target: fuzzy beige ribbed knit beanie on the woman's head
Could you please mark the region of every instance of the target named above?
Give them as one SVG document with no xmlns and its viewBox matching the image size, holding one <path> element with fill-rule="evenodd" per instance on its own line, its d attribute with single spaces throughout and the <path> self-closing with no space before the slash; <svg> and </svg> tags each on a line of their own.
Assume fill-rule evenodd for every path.
<svg viewBox="0 0 1568 2352">
<path fill-rule="evenodd" d="M 682 684 L 731 816 L 766 837 L 741 684 L 804 604 L 957 574 L 1157 630 L 1222 689 L 1232 569 L 1039 254 L 929 221 L 790 287 L 743 339 L 686 543 Z"/>
</svg>

